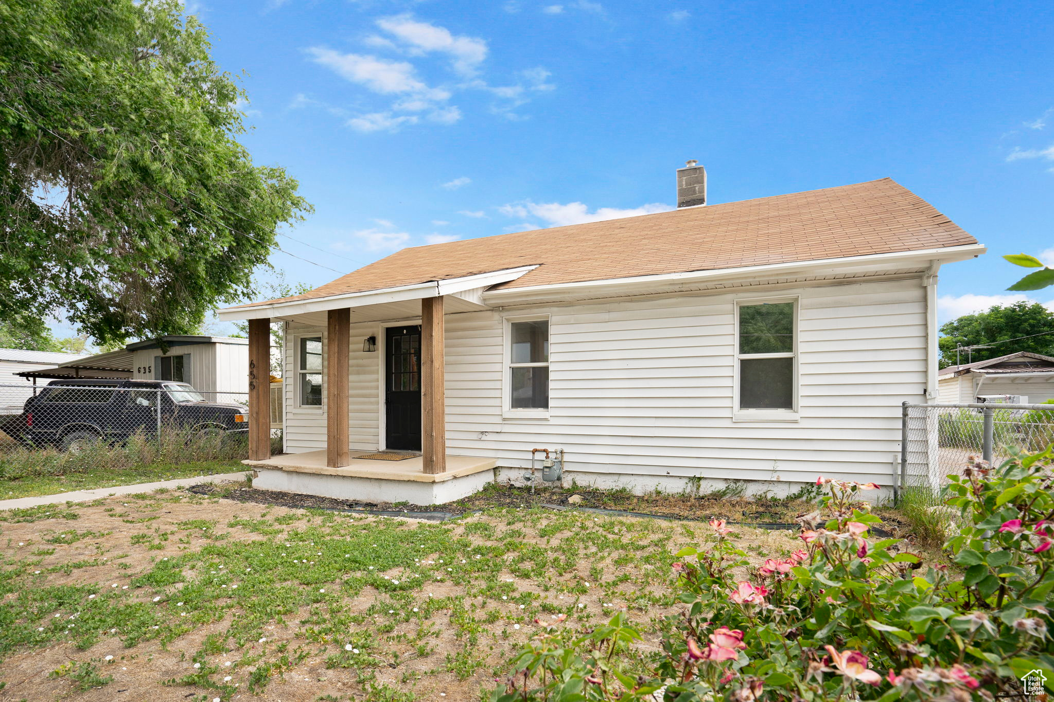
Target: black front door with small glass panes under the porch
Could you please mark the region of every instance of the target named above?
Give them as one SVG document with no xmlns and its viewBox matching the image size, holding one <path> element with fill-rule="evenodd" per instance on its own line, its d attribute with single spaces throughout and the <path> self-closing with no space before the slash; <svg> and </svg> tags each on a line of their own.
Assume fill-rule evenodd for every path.
<svg viewBox="0 0 1054 702">
<path fill-rule="evenodd" d="M 421 326 L 389 326 L 385 356 L 385 445 L 421 450 Z"/>
</svg>

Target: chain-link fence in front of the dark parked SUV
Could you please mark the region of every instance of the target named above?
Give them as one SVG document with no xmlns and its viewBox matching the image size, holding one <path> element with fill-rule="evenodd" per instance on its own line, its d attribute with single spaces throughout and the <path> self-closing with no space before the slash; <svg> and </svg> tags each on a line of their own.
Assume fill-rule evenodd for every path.
<svg viewBox="0 0 1054 702">
<path fill-rule="evenodd" d="M 233 438 L 248 432 L 248 393 L 198 390 L 164 381 L 62 381 L 0 385 L 0 454 L 89 443 L 124 444 L 180 435 Z"/>
</svg>

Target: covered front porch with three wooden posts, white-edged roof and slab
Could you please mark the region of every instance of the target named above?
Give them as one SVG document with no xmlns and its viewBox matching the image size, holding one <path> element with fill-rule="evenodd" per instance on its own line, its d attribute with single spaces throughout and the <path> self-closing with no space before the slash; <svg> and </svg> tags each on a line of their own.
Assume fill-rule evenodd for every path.
<svg viewBox="0 0 1054 702">
<path fill-rule="evenodd" d="M 512 280 L 527 269 L 529 267 L 321 299 L 276 300 L 222 310 L 220 319 L 247 319 L 249 322 L 249 458 L 245 463 L 256 472 L 253 485 L 260 489 L 365 502 L 406 501 L 427 505 L 466 497 L 491 481 L 495 458 L 447 453 L 445 319 L 448 313 L 487 309 L 482 302 L 483 290 Z M 268 378 L 273 321 L 325 329 L 325 363 L 320 360 L 319 348 L 317 368 L 321 383 L 316 415 L 319 419 L 325 415 L 324 449 L 271 455 Z M 410 427 L 404 433 L 412 437 L 410 445 L 393 445 L 390 433 L 387 442 L 386 435 L 380 432 L 370 438 L 351 435 L 349 383 L 371 382 L 371 374 L 363 366 L 365 355 L 359 354 L 357 365 L 353 365 L 350 352 L 353 344 L 357 349 L 364 342 L 367 345 L 378 343 L 374 337 L 352 339 L 353 322 L 377 323 L 382 329 L 389 323 L 397 323 L 414 333 L 412 377 L 404 381 L 404 394 L 406 387 L 412 390 L 411 396 L 419 392 L 419 409 L 418 399 L 411 397 L 408 408 L 403 407 L 397 417 Z M 416 333 L 418 325 L 419 334 Z M 391 369 L 391 358 L 384 356 L 387 350 L 375 357 L 379 369 L 373 373 L 379 373 L 382 384 L 387 385 L 397 379 Z M 377 376 L 372 378 L 372 382 L 376 382 Z M 299 383 L 299 376 L 293 382 Z M 294 388 L 294 393 L 298 392 Z M 380 422 L 385 417 L 392 422 L 391 408 L 384 404 L 391 403 L 391 393 L 382 393 Z M 419 435 L 415 424 L 418 412 Z M 418 436 L 419 447 L 415 445 Z M 353 450 L 352 443 L 357 447 L 375 445 L 375 449 Z M 385 458 L 399 460 L 368 457 L 377 452 L 395 454 Z M 364 456 L 368 458 L 362 458 Z"/>
</svg>

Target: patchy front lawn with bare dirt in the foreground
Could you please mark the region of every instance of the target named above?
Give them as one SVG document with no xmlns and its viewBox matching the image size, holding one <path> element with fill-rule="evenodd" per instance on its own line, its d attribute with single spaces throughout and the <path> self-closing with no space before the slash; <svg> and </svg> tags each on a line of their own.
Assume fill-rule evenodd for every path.
<svg viewBox="0 0 1054 702">
<path fill-rule="evenodd" d="M 186 493 L 0 513 L 11 699 L 475 700 L 543 623 L 655 634 L 705 524 L 492 509 L 444 523 Z M 760 563 L 789 531 L 738 528 Z M 52 671 L 63 670 L 50 677 Z M 101 689 L 97 689 L 101 686 Z"/>
</svg>

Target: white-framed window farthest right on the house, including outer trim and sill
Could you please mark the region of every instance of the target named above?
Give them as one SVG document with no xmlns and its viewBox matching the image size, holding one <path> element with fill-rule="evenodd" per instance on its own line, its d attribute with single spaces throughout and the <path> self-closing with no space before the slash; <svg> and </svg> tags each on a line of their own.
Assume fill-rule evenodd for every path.
<svg viewBox="0 0 1054 702">
<path fill-rule="evenodd" d="M 798 420 L 798 298 L 736 303 L 735 421 Z"/>
</svg>

